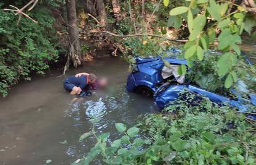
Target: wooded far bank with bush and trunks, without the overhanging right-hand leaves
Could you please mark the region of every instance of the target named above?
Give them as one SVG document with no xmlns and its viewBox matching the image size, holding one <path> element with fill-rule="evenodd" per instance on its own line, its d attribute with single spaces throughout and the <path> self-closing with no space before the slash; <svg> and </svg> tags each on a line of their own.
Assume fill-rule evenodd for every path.
<svg viewBox="0 0 256 165">
<path fill-rule="evenodd" d="M 160 34 L 169 9 L 161 8 L 156 17 L 159 5 L 158 1 L 1 1 L 0 92 L 6 96 L 11 85 L 45 74 L 56 62 L 63 66 L 67 62 L 66 72 L 68 66 L 77 67 L 93 57 L 137 53 L 143 46 L 140 40 L 122 36 Z"/>
</svg>

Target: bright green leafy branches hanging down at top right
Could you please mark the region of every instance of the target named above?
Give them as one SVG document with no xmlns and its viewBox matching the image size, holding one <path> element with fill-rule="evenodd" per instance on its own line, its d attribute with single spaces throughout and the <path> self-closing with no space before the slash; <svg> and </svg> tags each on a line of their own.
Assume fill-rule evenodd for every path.
<svg viewBox="0 0 256 165">
<path fill-rule="evenodd" d="M 216 31 L 221 30 L 216 47 L 224 54 L 218 62 L 218 75 L 226 78 L 224 83 L 226 88 L 236 83 L 234 67 L 237 65 L 237 56 L 241 54 L 238 46 L 242 42 L 241 34 L 245 30 L 250 35 L 253 27 L 256 26 L 252 15 L 244 7 L 234 5 L 237 10 L 231 12 L 233 7 L 231 1 L 192 0 L 188 5 L 183 4 L 171 9 L 169 12 L 171 17 L 168 21 L 168 25 L 177 28 L 181 26 L 182 18 L 187 20 L 190 35 L 185 45 L 187 51 L 184 57 L 189 62 L 202 61 L 202 48 L 215 47 Z"/>
</svg>

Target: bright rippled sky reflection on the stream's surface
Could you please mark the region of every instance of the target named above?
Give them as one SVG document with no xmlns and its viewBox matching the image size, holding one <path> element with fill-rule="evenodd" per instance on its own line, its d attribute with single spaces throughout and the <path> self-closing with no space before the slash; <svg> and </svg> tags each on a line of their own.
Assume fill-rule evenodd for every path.
<svg viewBox="0 0 256 165">
<path fill-rule="evenodd" d="M 65 116 L 72 119 L 75 129 L 83 130 L 83 127 L 87 127 L 89 132 L 94 125 L 96 132 L 110 132 L 111 138 L 116 138 L 119 133 L 114 129 L 114 123 L 132 125 L 140 114 L 154 112 L 156 109 L 158 108 L 153 99 L 128 93 L 125 84 L 121 84 L 116 85 L 113 92 L 95 91 L 88 98 L 73 99 L 65 111 Z M 67 148 L 66 154 L 81 158 L 94 144 L 94 137 L 86 139 L 85 142 L 73 143 Z"/>
</svg>

